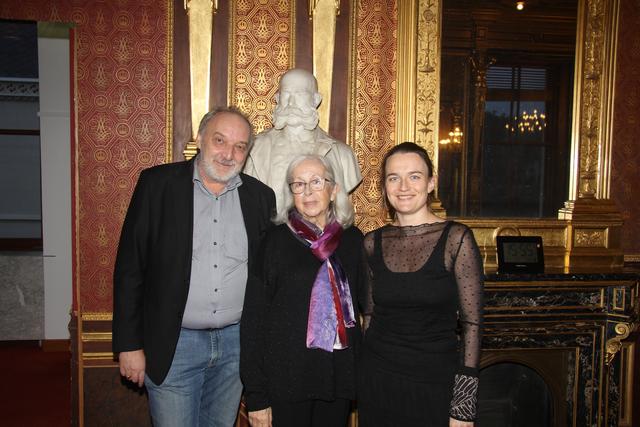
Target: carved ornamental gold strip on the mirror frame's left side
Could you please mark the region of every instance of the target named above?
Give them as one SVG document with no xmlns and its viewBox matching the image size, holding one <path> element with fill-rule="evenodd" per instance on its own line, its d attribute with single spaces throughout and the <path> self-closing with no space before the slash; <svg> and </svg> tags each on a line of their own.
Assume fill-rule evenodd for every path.
<svg viewBox="0 0 640 427">
<path fill-rule="evenodd" d="M 441 20 L 441 1 L 419 1 L 415 140 L 427 150 L 436 170 L 440 115 Z"/>
</svg>

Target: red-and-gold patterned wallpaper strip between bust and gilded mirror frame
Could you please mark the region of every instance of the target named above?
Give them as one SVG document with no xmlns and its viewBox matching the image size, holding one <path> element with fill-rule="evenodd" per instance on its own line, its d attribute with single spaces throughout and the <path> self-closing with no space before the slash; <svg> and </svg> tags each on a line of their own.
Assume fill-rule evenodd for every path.
<svg viewBox="0 0 640 427">
<path fill-rule="evenodd" d="M 398 13 L 395 1 L 360 0 L 356 14 L 356 91 L 350 126 L 363 176 L 354 192 L 356 223 L 366 232 L 383 224 L 380 161 L 395 145 Z"/>
</svg>

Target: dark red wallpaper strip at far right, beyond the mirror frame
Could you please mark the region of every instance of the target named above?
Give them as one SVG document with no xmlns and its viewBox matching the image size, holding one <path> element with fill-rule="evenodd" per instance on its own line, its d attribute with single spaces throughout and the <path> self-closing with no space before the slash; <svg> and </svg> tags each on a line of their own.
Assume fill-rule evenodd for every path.
<svg viewBox="0 0 640 427">
<path fill-rule="evenodd" d="M 640 255 L 640 1 L 620 2 L 611 198 L 622 212 L 622 249 Z"/>
</svg>

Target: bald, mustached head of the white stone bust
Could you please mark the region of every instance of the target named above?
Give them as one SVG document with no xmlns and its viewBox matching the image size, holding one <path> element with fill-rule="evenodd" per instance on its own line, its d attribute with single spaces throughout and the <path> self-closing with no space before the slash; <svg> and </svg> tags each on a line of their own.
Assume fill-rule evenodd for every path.
<svg viewBox="0 0 640 427">
<path fill-rule="evenodd" d="M 318 82 L 310 72 L 293 68 L 284 73 L 275 99 L 275 129 L 299 127 L 313 130 L 318 126 L 317 108 L 322 96 L 318 93 Z"/>
</svg>

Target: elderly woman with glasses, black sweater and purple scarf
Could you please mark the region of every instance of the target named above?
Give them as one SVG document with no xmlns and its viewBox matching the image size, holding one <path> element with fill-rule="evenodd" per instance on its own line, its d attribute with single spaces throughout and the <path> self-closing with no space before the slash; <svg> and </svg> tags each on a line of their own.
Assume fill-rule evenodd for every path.
<svg viewBox="0 0 640 427">
<path fill-rule="evenodd" d="M 247 285 L 240 375 L 252 427 L 345 426 L 355 398 L 362 233 L 321 156 L 292 161 Z"/>
</svg>

